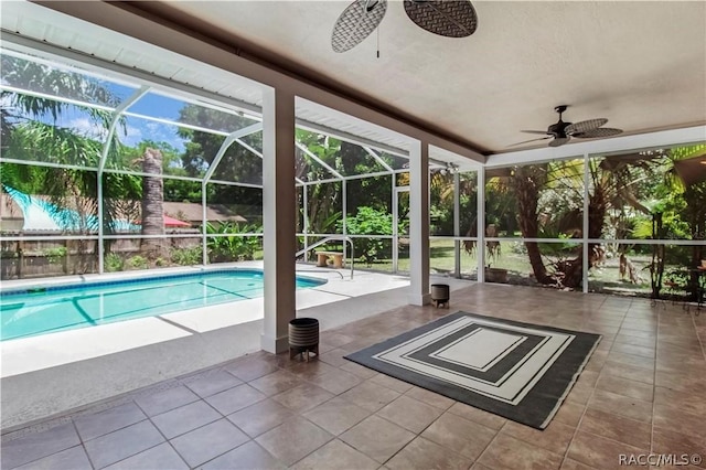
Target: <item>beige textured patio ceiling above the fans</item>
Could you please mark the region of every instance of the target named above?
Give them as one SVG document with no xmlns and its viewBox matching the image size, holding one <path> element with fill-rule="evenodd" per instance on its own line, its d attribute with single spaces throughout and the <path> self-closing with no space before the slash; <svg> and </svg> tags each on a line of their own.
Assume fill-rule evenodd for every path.
<svg viewBox="0 0 706 470">
<path fill-rule="evenodd" d="M 477 1 L 466 39 L 421 30 L 392 1 L 379 41 L 345 53 L 331 31 L 347 2 L 131 4 L 485 153 L 537 146 L 509 147 L 554 124 L 560 104 L 565 121 L 602 117 L 625 133 L 706 122 L 703 1 Z"/>
</svg>

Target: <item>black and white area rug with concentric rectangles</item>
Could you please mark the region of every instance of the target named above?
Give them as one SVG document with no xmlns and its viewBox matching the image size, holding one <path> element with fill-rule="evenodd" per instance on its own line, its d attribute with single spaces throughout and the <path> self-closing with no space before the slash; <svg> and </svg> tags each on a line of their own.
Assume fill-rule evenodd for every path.
<svg viewBox="0 0 706 470">
<path fill-rule="evenodd" d="M 600 338 L 457 312 L 345 359 L 544 429 Z"/>
</svg>

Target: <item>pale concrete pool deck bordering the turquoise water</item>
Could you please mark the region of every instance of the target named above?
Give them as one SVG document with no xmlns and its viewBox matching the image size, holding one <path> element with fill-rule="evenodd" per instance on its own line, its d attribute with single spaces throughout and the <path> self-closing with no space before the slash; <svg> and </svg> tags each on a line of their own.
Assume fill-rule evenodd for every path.
<svg viewBox="0 0 706 470">
<path fill-rule="evenodd" d="M 261 268 L 263 264 L 218 268 L 234 266 Z M 180 270 L 195 269 L 201 268 Z M 296 293 L 297 316 L 319 319 L 322 331 L 407 305 L 409 279 L 405 276 L 356 269 L 350 279 L 350 269 L 311 265 L 297 265 L 297 271 L 328 280 Z M 176 274 L 173 269 L 165 273 Z M 125 275 L 104 275 L 100 279 L 121 277 Z M 443 282 L 452 290 L 472 284 L 453 278 L 443 278 Z M 36 279 L 4 282 L 3 287 L 32 284 Z M 257 352 L 263 317 L 259 298 L 2 342 L 2 431 Z"/>
</svg>

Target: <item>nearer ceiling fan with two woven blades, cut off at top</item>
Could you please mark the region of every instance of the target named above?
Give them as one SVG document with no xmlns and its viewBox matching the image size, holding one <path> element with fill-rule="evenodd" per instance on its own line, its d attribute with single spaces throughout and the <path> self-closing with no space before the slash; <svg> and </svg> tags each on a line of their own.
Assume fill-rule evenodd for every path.
<svg viewBox="0 0 706 470">
<path fill-rule="evenodd" d="M 448 38 L 475 32 L 478 17 L 469 0 L 405 0 L 405 12 L 419 28 Z M 359 45 L 383 21 L 387 0 L 355 0 L 333 25 L 331 46 L 346 52 Z"/>
</svg>

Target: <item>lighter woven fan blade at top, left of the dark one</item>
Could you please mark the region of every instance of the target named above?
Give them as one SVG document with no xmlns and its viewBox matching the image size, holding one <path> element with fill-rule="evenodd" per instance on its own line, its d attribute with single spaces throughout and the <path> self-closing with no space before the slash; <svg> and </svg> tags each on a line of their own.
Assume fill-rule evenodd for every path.
<svg viewBox="0 0 706 470">
<path fill-rule="evenodd" d="M 383 21 L 387 0 L 355 0 L 335 20 L 331 33 L 334 52 L 345 52 L 359 45 Z"/>
</svg>

